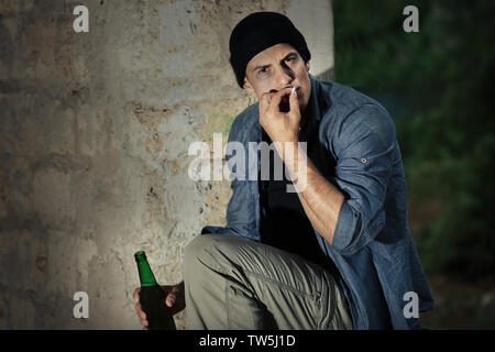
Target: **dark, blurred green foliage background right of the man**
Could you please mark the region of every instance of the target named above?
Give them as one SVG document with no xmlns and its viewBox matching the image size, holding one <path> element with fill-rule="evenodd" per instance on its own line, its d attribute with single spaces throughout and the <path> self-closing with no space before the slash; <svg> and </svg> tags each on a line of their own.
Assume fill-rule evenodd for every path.
<svg viewBox="0 0 495 352">
<path fill-rule="evenodd" d="M 419 32 L 406 33 L 406 6 Z M 495 1 L 333 1 L 336 80 L 397 129 L 414 241 L 437 307 L 425 328 L 495 328 Z"/>
</svg>

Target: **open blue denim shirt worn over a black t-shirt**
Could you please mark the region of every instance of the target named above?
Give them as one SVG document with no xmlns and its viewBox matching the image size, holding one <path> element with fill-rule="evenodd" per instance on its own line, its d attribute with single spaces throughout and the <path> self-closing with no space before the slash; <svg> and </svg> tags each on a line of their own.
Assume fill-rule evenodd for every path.
<svg viewBox="0 0 495 352">
<path fill-rule="evenodd" d="M 405 311 L 414 312 L 415 302 L 419 311 L 430 310 L 433 299 L 408 227 L 406 180 L 394 123 L 372 98 L 311 75 L 310 80 L 309 123 L 317 128 L 320 152 L 308 157 L 345 196 L 332 244 L 316 230 L 315 235 L 340 273 L 354 329 L 419 329 L 419 319 Z M 229 134 L 229 142 L 257 153 L 254 161 L 245 161 L 251 176 L 260 172 L 258 118 L 258 103 L 254 103 L 235 118 Z M 230 157 L 226 155 L 228 163 Z M 258 182 L 238 177 L 231 188 L 227 226 L 208 226 L 201 233 L 263 242 Z"/>
</svg>

